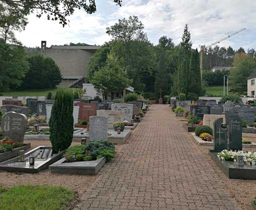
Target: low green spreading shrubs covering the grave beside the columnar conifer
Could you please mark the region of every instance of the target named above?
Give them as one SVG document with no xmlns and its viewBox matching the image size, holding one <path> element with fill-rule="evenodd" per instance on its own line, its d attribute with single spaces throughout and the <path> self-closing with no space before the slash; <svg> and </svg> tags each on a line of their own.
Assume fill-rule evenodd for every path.
<svg viewBox="0 0 256 210">
<path fill-rule="evenodd" d="M 67 162 L 90 161 L 105 157 L 106 161 L 114 158 L 114 144 L 107 140 L 92 141 L 89 144 L 74 145 L 64 153 Z"/>
</svg>

